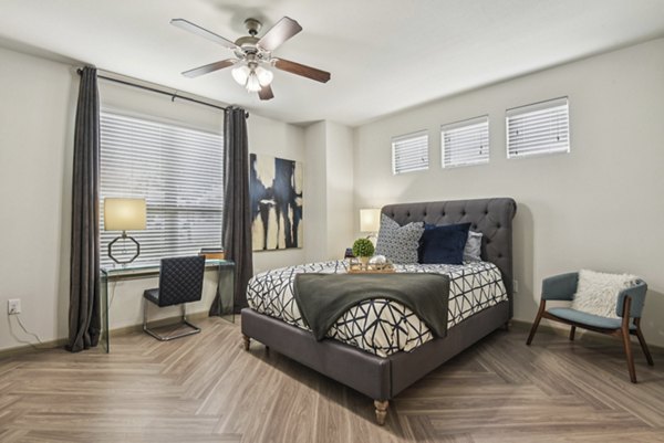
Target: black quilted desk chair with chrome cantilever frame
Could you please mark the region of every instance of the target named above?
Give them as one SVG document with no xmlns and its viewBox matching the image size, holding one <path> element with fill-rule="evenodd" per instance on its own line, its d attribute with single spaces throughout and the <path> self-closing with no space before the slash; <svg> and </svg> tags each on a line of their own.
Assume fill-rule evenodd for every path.
<svg viewBox="0 0 664 443">
<path fill-rule="evenodd" d="M 200 299 L 204 273 L 205 256 L 203 255 L 162 259 L 159 287 L 143 293 L 143 330 L 162 341 L 200 333 L 200 328 L 187 321 L 185 304 Z M 147 327 L 147 302 L 152 302 L 159 307 L 180 305 L 183 324 L 188 326 L 190 330 L 164 336 L 149 329 Z"/>
</svg>

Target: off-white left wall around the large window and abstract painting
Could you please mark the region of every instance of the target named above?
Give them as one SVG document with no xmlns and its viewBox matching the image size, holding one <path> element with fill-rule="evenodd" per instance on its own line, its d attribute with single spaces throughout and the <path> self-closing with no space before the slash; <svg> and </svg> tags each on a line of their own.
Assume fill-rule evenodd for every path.
<svg viewBox="0 0 664 443">
<path fill-rule="evenodd" d="M 7 300 L 20 298 L 21 320 L 44 341 L 68 336 L 69 253 L 73 127 L 79 78 L 75 67 L 0 48 L 0 349 L 32 337 L 8 317 Z M 103 106 L 220 129 L 221 112 L 100 81 Z M 304 130 L 251 115 L 252 152 L 304 158 Z M 304 183 L 307 192 L 308 183 Z M 307 201 L 305 201 L 307 203 Z M 257 253 L 257 271 L 301 263 L 304 250 Z M 189 306 L 206 312 L 215 289 L 208 272 L 204 299 Z M 111 328 L 139 324 L 141 297 L 156 278 L 111 285 Z M 165 315 L 174 315 L 167 312 Z M 12 337 L 13 330 L 18 337 Z"/>
</svg>

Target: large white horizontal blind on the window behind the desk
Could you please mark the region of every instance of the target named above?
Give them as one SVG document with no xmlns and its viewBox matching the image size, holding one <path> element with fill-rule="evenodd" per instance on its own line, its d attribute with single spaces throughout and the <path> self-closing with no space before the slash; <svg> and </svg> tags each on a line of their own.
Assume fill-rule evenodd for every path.
<svg viewBox="0 0 664 443">
<path fill-rule="evenodd" d="M 134 263 L 196 254 L 221 246 L 224 200 L 221 135 L 172 124 L 101 113 L 101 252 L 102 266 L 113 265 L 108 243 L 121 232 L 104 231 L 104 198 L 145 198 L 145 231 L 129 231 L 141 243 Z M 126 255 L 122 241 L 113 247 Z"/>
</svg>

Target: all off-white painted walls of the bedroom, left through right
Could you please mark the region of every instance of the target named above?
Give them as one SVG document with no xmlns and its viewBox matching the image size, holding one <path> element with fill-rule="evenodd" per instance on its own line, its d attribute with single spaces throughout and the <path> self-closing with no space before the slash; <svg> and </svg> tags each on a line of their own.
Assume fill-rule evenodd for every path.
<svg viewBox="0 0 664 443">
<path fill-rule="evenodd" d="M 20 346 L 4 315 L 21 298 L 25 326 L 43 340 L 66 337 L 73 118 L 77 76 L 68 64 L 0 49 L 0 349 Z M 307 130 L 257 115 L 248 122 L 250 150 L 304 161 L 303 250 L 255 254 L 255 268 L 339 256 L 357 231 L 360 208 L 392 202 L 511 196 L 515 265 L 520 292 L 516 318 L 535 316 L 541 279 L 580 267 L 631 272 L 650 284 L 646 338 L 664 346 L 664 40 L 547 70 L 435 102 L 362 126 L 354 133 L 329 122 Z M 101 84 L 106 104 L 136 112 L 180 113 L 195 125 L 221 116 L 168 97 L 132 97 Z M 506 160 L 505 109 L 570 97 L 572 152 Z M 148 98 L 149 96 L 149 98 Z M 181 107 L 184 106 L 184 108 Z M 186 109 L 186 110 L 183 110 Z M 442 170 L 439 125 L 490 116 L 491 162 Z M 204 115 L 205 114 L 205 115 Z M 428 129 L 430 168 L 394 177 L 390 139 Z M 324 178 L 321 180 L 321 178 Z M 329 184 L 328 184 L 329 183 Z M 353 186 L 354 193 L 350 191 Z M 320 223 L 319 223 L 320 222 Z M 211 296 L 206 278 L 206 299 Z M 154 281 L 118 283 L 112 327 L 139 320 L 139 297 Z M 206 308 L 205 302 L 200 309 Z M 15 318 L 12 329 L 19 339 Z"/>
</svg>

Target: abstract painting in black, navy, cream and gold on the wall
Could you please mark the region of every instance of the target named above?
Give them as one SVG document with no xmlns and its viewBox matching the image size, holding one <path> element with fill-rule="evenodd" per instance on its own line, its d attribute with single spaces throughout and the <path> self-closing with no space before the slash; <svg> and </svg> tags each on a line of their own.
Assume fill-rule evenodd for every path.
<svg viewBox="0 0 664 443">
<path fill-rule="evenodd" d="M 302 164 L 249 155 L 253 251 L 302 247 Z"/>
</svg>

